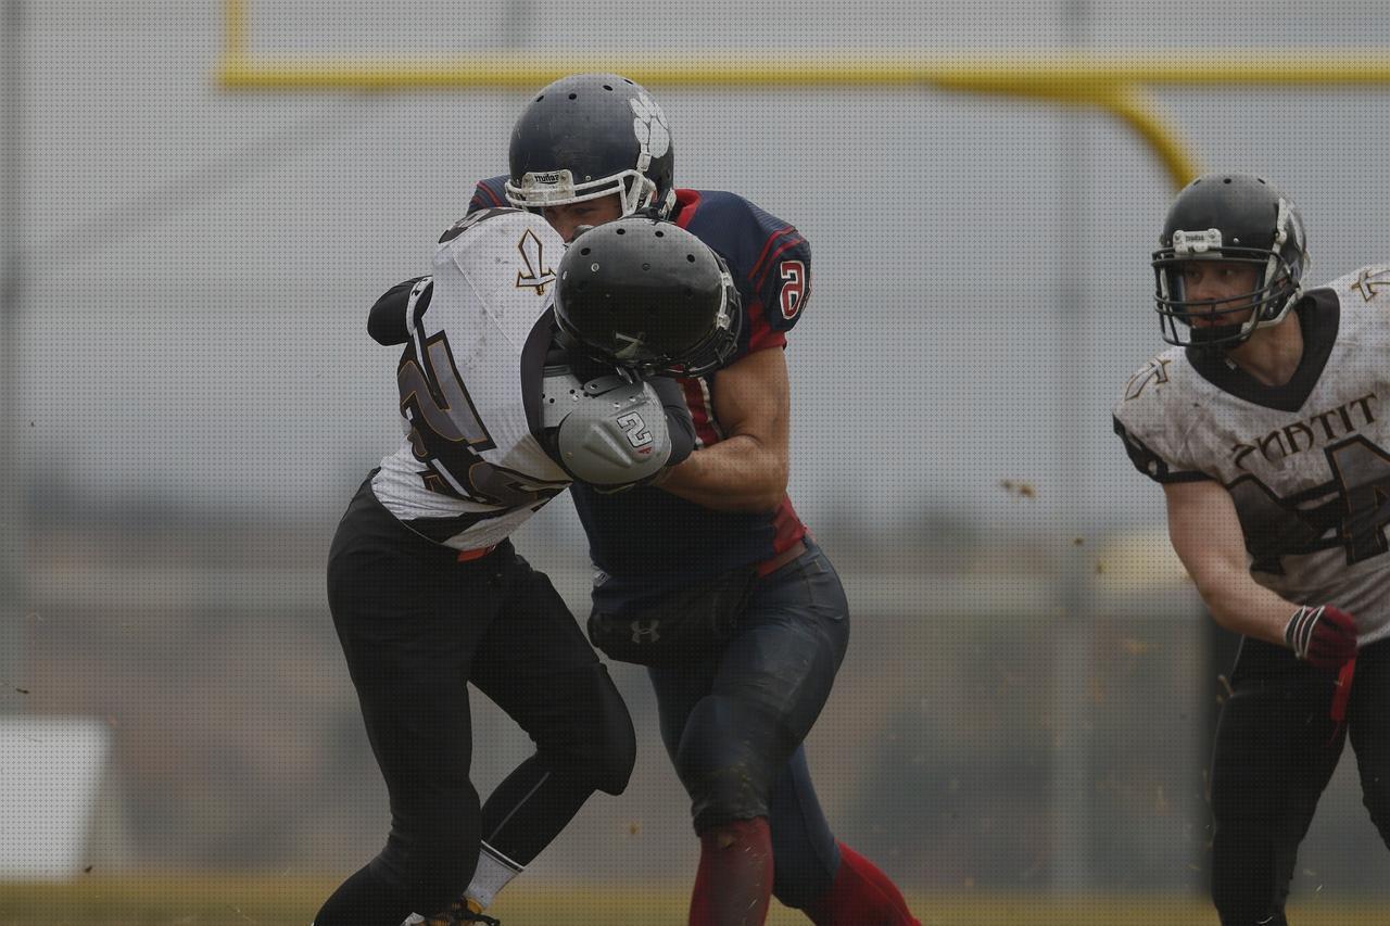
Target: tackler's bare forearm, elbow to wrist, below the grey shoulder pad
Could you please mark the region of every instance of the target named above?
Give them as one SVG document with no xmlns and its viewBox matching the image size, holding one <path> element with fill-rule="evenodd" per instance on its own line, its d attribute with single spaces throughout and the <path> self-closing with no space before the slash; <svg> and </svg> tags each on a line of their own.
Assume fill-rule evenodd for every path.
<svg viewBox="0 0 1390 926">
<path fill-rule="evenodd" d="M 695 450 L 659 480 L 663 491 L 720 512 L 771 512 L 787 495 L 787 460 L 749 435 Z"/>
</svg>

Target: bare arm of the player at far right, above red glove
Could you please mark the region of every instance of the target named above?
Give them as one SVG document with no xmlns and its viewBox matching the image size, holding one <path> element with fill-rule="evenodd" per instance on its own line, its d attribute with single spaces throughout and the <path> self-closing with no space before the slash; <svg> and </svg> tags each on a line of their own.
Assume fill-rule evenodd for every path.
<svg viewBox="0 0 1390 926">
<path fill-rule="evenodd" d="M 1259 585 L 1250 574 L 1245 538 L 1230 492 L 1213 481 L 1170 482 L 1168 535 L 1222 627 L 1276 645 L 1298 605 Z"/>
</svg>

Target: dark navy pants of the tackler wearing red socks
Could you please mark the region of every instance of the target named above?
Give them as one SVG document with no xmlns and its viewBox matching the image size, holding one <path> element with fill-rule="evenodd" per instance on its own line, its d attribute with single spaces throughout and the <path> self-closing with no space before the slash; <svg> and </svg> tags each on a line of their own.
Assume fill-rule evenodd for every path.
<svg viewBox="0 0 1390 926">
<path fill-rule="evenodd" d="M 755 581 L 720 655 L 649 670 L 695 830 L 766 816 L 773 893 L 802 909 L 830 890 L 840 850 L 801 744 L 849 644 L 840 577 L 815 544 L 806 546 Z"/>
</svg>

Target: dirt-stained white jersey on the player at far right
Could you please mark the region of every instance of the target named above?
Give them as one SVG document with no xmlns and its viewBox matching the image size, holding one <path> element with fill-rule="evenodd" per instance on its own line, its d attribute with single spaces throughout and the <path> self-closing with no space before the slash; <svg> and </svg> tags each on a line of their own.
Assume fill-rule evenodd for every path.
<svg viewBox="0 0 1390 926">
<path fill-rule="evenodd" d="M 1225 485 L 1255 581 L 1350 612 L 1366 645 L 1390 637 L 1390 266 L 1314 289 L 1297 311 L 1290 382 L 1173 348 L 1130 378 L 1115 430 L 1145 476 Z"/>
</svg>

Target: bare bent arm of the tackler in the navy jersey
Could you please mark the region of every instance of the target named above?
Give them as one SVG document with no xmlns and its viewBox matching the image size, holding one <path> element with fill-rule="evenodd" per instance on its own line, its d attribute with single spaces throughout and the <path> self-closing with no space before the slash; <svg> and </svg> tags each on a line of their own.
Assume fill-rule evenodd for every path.
<svg viewBox="0 0 1390 926">
<path fill-rule="evenodd" d="M 714 374 L 714 416 L 724 439 L 691 453 L 657 485 L 726 512 L 770 512 L 791 470 L 791 385 L 781 350 L 758 350 Z"/>
</svg>

